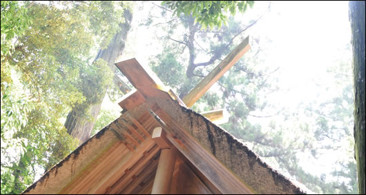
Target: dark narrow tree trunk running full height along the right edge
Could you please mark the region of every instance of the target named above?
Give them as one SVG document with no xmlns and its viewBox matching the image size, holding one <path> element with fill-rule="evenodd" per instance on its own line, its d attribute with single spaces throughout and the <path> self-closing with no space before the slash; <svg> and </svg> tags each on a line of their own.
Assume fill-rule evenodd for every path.
<svg viewBox="0 0 366 195">
<path fill-rule="evenodd" d="M 354 138 L 358 193 L 365 194 L 365 1 L 349 1 L 354 72 Z"/>
</svg>

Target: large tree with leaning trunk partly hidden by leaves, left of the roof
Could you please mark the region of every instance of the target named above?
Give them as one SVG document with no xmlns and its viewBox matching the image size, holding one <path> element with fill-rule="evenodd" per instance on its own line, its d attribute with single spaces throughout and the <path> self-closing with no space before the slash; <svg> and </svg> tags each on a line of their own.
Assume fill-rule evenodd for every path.
<svg viewBox="0 0 366 195">
<path fill-rule="evenodd" d="M 119 32 L 114 35 L 107 48 L 99 50 L 97 57 L 95 58 L 95 61 L 98 61 L 99 59 L 103 59 L 104 61 L 106 61 L 108 67 L 113 73 L 116 70 L 114 64 L 115 59 L 124 50 L 127 33 L 131 26 L 131 11 L 128 10 L 128 8 L 125 8 L 123 12 L 124 22 L 119 23 Z M 85 79 L 88 79 L 88 77 L 86 77 Z M 103 76 L 102 79 L 103 78 L 108 78 L 108 76 Z M 116 75 L 114 75 L 113 78 L 114 83 L 119 86 L 119 89 L 123 90 L 122 92 L 128 92 L 128 87 L 124 86 L 126 84 L 124 84 L 122 81 L 119 81 Z M 83 86 L 85 88 L 88 88 L 87 90 L 85 90 L 85 92 L 88 93 L 86 98 L 90 101 L 75 105 L 75 107 L 73 107 L 73 110 L 68 114 L 65 122 L 65 127 L 68 130 L 68 134 L 72 135 L 75 138 L 78 138 L 80 141 L 79 144 L 84 143 L 86 140 L 88 140 L 88 138 L 90 138 L 95 121 L 99 114 L 103 98 L 108 90 L 108 87 L 106 87 L 106 85 L 97 85 L 92 87 L 89 85 L 88 81 L 83 83 Z M 122 86 L 124 87 L 122 88 Z M 99 94 L 99 96 L 93 99 L 93 94 Z"/>
</svg>

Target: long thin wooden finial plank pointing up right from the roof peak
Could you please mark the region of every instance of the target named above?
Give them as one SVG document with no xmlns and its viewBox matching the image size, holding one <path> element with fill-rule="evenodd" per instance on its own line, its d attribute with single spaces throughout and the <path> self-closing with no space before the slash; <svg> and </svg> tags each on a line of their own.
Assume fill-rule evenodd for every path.
<svg viewBox="0 0 366 195">
<path fill-rule="evenodd" d="M 187 107 L 191 107 L 209 88 L 218 81 L 239 59 L 250 49 L 249 36 L 232 50 L 218 66 L 216 66 L 204 79 L 198 83 L 189 94 L 186 94 L 182 101 Z"/>
</svg>

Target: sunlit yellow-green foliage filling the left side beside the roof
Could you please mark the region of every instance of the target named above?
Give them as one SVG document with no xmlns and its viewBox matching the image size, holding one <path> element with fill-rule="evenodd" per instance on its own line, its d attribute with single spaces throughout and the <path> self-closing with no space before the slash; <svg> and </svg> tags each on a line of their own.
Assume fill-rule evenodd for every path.
<svg viewBox="0 0 366 195">
<path fill-rule="evenodd" d="M 21 193 L 77 147 L 63 120 L 72 107 L 85 112 L 101 101 L 113 83 L 106 62 L 91 59 L 119 29 L 125 7 L 1 1 L 1 194 Z"/>
</svg>

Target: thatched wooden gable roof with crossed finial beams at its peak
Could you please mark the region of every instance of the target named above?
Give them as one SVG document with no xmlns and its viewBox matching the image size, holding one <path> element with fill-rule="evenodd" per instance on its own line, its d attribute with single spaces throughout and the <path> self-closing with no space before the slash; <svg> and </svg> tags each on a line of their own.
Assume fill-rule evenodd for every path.
<svg viewBox="0 0 366 195">
<path fill-rule="evenodd" d="M 183 100 L 136 59 L 116 63 L 135 87 L 121 116 L 23 194 L 304 194 L 210 121 L 222 110 L 189 109 L 249 48 L 247 38 Z"/>
</svg>

